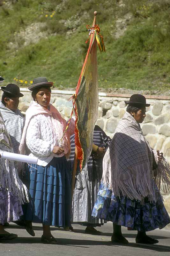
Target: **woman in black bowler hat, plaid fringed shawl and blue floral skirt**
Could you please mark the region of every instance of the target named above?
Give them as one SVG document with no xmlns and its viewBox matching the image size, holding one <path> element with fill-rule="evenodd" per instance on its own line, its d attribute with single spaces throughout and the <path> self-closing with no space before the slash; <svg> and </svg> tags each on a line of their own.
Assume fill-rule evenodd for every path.
<svg viewBox="0 0 170 256">
<path fill-rule="evenodd" d="M 140 124 L 150 106 L 145 97 L 133 94 L 125 103 L 126 113 L 103 158 L 103 177 L 92 216 L 113 222 L 112 243 L 128 244 L 121 231 L 125 226 L 137 230 L 136 243 L 156 244 L 159 241 L 147 236 L 146 231 L 170 223 L 156 184 L 163 173 L 170 173 L 169 164 L 142 133 Z M 168 175 L 163 182 L 168 188 Z"/>
</svg>

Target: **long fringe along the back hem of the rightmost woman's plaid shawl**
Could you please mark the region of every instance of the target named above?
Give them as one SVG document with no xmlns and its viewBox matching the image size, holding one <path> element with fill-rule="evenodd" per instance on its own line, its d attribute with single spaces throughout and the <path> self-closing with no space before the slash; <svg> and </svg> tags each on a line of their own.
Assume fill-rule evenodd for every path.
<svg viewBox="0 0 170 256">
<path fill-rule="evenodd" d="M 109 154 L 109 152 L 107 152 Z M 144 197 L 148 196 L 150 201 L 157 201 L 158 195 L 156 185 L 153 182 L 150 164 L 144 163 L 129 169 L 129 175 L 120 175 L 120 170 L 115 166 L 111 168 L 109 160 L 103 161 L 103 176 L 104 184 L 109 185 L 109 189 L 113 190 L 115 196 L 128 197 L 131 200 L 143 201 Z"/>
</svg>

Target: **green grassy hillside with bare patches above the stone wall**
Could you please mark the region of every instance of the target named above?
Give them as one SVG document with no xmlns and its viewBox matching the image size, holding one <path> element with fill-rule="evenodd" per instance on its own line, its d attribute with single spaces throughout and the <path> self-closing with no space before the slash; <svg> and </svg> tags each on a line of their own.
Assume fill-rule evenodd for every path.
<svg viewBox="0 0 170 256">
<path fill-rule="evenodd" d="M 168 93 L 170 0 L 1 1 L 0 71 L 6 83 L 16 78 L 26 86 L 47 76 L 56 88 L 75 88 L 94 10 L 106 46 L 106 53 L 98 51 L 100 88 Z"/>
</svg>

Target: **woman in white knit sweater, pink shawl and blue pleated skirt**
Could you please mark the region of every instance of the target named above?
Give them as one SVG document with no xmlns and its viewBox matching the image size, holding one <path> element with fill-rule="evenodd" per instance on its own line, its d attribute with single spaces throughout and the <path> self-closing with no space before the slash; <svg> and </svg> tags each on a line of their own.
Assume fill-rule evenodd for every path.
<svg viewBox="0 0 170 256">
<path fill-rule="evenodd" d="M 70 226 L 70 173 L 66 157 L 70 154 L 70 134 L 63 132 L 66 121 L 50 104 L 52 82 L 45 77 L 33 80 L 28 89 L 32 91 L 33 103 L 26 111 L 20 153 L 29 150 L 29 156 L 38 162 L 29 168 L 30 203 L 25 218 L 42 223 L 41 241 L 56 244 L 50 226 Z"/>
</svg>

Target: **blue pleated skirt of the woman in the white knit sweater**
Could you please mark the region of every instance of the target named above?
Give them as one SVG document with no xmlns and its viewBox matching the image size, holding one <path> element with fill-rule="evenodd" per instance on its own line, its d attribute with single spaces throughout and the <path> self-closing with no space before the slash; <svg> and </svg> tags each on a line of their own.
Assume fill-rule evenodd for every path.
<svg viewBox="0 0 170 256">
<path fill-rule="evenodd" d="M 47 166 L 32 164 L 28 174 L 30 203 L 26 207 L 25 220 L 70 226 L 71 182 L 65 156 L 54 157 Z"/>
</svg>

